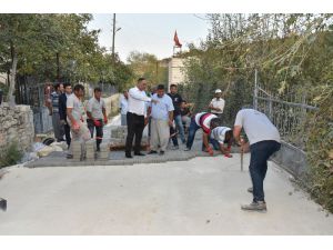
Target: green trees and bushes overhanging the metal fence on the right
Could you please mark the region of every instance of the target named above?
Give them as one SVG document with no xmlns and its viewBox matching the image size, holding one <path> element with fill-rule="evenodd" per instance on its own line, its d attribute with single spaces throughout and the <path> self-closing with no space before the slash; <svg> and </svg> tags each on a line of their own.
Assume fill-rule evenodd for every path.
<svg viewBox="0 0 333 250">
<path fill-rule="evenodd" d="M 306 96 L 320 107 L 303 123 L 309 157 L 307 187 L 333 212 L 333 16 L 208 14 L 206 41 L 191 44 L 183 96 L 208 111 L 213 90 L 224 91 L 224 124 L 232 126 L 243 104 L 252 103 L 254 69 L 259 84 L 278 98 Z M 300 128 L 295 128 L 299 130 Z M 300 132 L 297 133 L 300 137 Z"/>
</svg>

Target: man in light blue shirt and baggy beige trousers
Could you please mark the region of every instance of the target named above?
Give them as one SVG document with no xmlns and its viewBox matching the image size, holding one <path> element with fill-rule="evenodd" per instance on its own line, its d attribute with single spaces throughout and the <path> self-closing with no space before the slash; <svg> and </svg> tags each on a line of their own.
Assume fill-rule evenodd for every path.
<svg viewBox="0 0 333 250">
<path fill-rule="evenodd" d="M 152 96 L 152 100 L 158 100 L 158 103 L 151 103 L 151 141 L 150 141 L 150 152 L 158 153 L 158 148 L 160 146 L 160 156 L 163 156 L 169 138 L 170 138 L 170 127 L 173 123 L 173 103 L 172 99 L 165 94 L 164 86 L 158 86 L 158 92 Z"/>
</svg>

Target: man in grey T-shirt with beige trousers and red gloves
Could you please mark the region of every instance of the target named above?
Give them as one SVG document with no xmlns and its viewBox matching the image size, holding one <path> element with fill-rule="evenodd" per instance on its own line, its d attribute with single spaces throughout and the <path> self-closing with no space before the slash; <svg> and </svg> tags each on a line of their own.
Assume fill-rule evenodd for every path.
<svg viewBox="0 0 333 250">
<path fill-rule="evenodd" d="M 80 141 L 85 150 L 85 141 L 90 139 L 90 132 L 85 123 L 85 111 L 81 98 L 84 96 L 84 87 L 82 84 L 74 86 L 74 92 L 67 99 L 67 121 L 71 128 L 72 142 Z M 69 148 L 68 158 L 73 158 L 72 143 Z"/>
</svg>

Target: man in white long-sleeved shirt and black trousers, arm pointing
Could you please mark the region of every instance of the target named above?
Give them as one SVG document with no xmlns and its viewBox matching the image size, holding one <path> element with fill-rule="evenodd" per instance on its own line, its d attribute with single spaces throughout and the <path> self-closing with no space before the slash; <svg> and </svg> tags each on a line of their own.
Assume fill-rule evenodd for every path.
<svg viewBox="0 0 333 250">
<path fill-rule="evenodd" d="M 144 156 L 140 152 L 142 132 L 144 129 L 144 116 L 147 114 L 145 102 L 158 102 L 145 94 L 147 81 L 139 78 L 137 87 L 129 91 L 129 110 L 127 113 L 128 137 L 125 143 L 125 157 L 132 158 L 132 144 L 135 136 L 134 156 Z"/>
</svg>

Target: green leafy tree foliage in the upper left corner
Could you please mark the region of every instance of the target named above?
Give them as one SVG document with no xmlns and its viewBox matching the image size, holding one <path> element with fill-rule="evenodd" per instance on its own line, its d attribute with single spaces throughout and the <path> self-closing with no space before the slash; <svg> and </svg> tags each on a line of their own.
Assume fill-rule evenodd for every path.
<svg viewBox="0 0 333 250">
<path fill-rule="evenodd" d="M 99 46 L 100 30 L 87 28 L 91 20 L 92 14 L 0 14 L 0 72 L 12 70 L 14 52 L 20 76 L 123 84 L 131 70 Z"/>
</svg>

